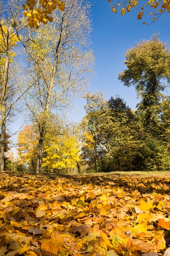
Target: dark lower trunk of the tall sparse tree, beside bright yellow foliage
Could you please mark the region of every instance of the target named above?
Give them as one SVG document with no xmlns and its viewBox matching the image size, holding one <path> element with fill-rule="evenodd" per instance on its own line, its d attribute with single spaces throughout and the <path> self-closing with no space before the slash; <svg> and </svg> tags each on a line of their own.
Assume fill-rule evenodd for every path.
<svg viewBox="0 0 170 256">
<path fill-rule="evenodd" d="M 40 129 L 40 139 L 38 142 L 38 154 L 37 154 L 37 165 L 35 173 L 40 174 L 42 172 L 42 156 L 44 151 L 44 139 L 45 139 L 45 129 L 42 126 Z"/>
</svg>

